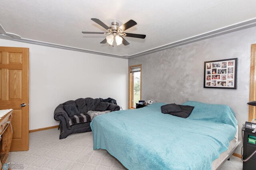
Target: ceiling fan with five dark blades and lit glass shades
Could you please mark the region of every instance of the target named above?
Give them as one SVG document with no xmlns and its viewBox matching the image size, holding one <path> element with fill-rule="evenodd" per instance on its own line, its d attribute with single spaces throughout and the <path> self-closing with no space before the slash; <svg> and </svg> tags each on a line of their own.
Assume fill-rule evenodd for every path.
<svg viewBox="0 0 256 170">
<path fill-rule="evenodd" d="M 133 34 L 133 33 L 124 33 L 126 29 L 129 29 L 130 27 L 133 27 L 134 25 L 137 25 L 137 23 L 134 20 L 130 20 L 123 25 L 119 26 L 118 22 L 112 22 L 110 26 L 107 26 L 105 23 L 100 21 L 97 18 L 91 18 L 92 21 L 98 23 L 100 26 L 108 30 L 107 33 L 103 32 L 82 32 L 84 34 L 105 34 L 108 35 L 103 41 L 101 41 L 101 44 L 108 43 L 109 45 L 113 45 L 114 39 L 116 40 L 116 45 L 124 44 L 129 45 L 128 41 L 124 39 L 124 37 L 134 37 L 134 38 L 141 38 L 144 39 L 146 35 L 142 34 Z"/>
</svg>

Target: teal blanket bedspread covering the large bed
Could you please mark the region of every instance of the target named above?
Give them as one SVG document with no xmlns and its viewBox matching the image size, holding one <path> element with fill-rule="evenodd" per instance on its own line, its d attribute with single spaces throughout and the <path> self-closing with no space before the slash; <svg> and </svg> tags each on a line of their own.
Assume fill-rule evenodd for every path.
<svg viewBox="0 0 256 170">
<path fill-rule="evenodd" d="M 90 126 L 93 149 L 106 149 L 129 170 L 210 170 L 227 150 L 237 121 L 229 106 L 194 106 L 184 119 L 161 113 L 165 103 L 95 117 Z"/>
</svg>

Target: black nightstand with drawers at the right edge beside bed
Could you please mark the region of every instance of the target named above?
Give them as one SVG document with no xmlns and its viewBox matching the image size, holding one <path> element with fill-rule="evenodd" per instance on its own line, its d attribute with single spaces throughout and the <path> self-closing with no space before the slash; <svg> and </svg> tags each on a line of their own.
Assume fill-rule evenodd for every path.
<svg viewBox="0 0 256 170">
<path fill-rule="evenodd" d="M 252 152 L 256 150 L 256 144 L 249 143 L 248 138 L 249 135 L 256 137 L 256 133 L 252 133 L 247 131 L 245 128 L 242 129 L 244 131 L 244 147 L 243 147 L 243 159 L 248 158 Z M 243 170 L 255 170 L 256 169 L 256 154 L 252 156 L 247 162 L 243 162 Z"/>
</svg>

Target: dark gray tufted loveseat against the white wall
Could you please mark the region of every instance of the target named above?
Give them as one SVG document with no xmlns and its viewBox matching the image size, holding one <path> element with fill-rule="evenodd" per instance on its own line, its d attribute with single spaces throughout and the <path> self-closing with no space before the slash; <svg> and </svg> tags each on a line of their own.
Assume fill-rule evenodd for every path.
<svg viewBox="0 0 256 170">
<path fill-rule="evenodd" d="M 68 110 L 68 113 L 67 113 Z M 66 138 L 72 133 L 92 131 L 90 127 L 90 117 L 86 114 L 88 111 L 117 111 L 120 107 L 116 104 L 101 102 L 99 98 L 79 98 L 77 100 L 69 100 L 56 107 L 54 111 L 54 119 L 60 121 L 60 139 Z M 72 123 L 72 118 L 78 119 L 83 116 L 84 122 Z"/>
</svg>

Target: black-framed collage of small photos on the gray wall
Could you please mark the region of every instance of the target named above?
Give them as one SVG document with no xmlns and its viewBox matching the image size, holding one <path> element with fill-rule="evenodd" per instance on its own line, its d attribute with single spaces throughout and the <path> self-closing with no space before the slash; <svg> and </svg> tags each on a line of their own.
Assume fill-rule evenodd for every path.
<svg viewBox="0 0 256 170">
<path fill-rule="evenodd" d="M 238 58 L 205 61 L 204 88 L 237 89 Z"/>
</svg>

